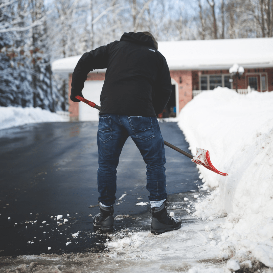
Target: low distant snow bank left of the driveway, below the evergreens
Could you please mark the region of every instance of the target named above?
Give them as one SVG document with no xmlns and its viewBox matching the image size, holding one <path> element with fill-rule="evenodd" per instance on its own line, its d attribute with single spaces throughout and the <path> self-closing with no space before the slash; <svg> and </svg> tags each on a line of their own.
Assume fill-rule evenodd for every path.
<svg viewBox="0 0 273 273">
<path fill-rule="evenodd" d="M 38 122 L 66 121 L 64 117 L 39 107 L 0 106 L 0 129 Z"/>
</svg>

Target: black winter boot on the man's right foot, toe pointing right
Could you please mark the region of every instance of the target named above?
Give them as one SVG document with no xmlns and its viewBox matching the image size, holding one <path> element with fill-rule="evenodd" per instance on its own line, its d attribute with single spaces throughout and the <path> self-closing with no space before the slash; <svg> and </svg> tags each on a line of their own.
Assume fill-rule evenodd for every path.
<svg viewBox="0 0 273 273">
<path fill-rule="evenodd" d="M 180 229 L 180 218 L 176 220 L 167 213 L 168 202 L 169 201 L 166 200 L 160 207 L 153 207 L 152 209 L 150 209 L 150 212 L 152 213 L 152 233 L 163 233 L 171 230 Z"/>
</svg>

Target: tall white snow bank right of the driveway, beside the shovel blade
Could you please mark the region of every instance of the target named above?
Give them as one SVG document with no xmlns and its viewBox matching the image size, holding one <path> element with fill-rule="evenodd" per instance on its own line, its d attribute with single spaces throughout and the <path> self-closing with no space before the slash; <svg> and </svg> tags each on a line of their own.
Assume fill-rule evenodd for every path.
<svg viewBox="0 0 273 273">
<path fill-rule="evenodd" d="M 227 215 L 222 226 L 229 258 L 253 255 L 273 267 L 273 92 L 241 95 L 218 87 L 194 97 L 180 112 L 179 127 L 190 150 L 210 152 L 212 164 L 227 177 L 197 166 L 203 189 L 195 216 Z M 230 253 L 227 253 L 232 249 Z M 230 263 L 231 265 L 232 263 Z"/>
</svg>

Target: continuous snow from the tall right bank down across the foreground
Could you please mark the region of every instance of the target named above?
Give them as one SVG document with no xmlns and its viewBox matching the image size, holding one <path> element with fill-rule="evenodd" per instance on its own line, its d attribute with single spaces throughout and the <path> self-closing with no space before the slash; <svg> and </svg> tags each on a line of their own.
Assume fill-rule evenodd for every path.
<svg viewBox="0 0 273 273">
<path fill-rule="evenodd" d="M 197 166 L 203 191 L 179 194 L 168 207 L 182 218 L 181 229 L 153 235 L 147 213 L 140 229 L 109 233 L 103 253 L 55 255 L 49 265 L 19 256 L 0 270 L 32 268 L 33 259 L 43 272 L 273 272 L 272 105 L 273 92 L 218 87 L 182 109 L 179 126 L 192 153 L 209 150 L 212 164 L 229 175 Z"/>
</svg>

